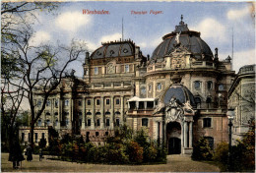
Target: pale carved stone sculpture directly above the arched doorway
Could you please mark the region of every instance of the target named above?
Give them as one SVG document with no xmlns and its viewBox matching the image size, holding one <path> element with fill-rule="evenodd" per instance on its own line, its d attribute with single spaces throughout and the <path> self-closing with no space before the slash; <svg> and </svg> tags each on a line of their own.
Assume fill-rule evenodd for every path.
<svg viewBox="0 0 256 173">
<path fill-rule="evenodd" d="M 176 97 L 172 97 L 169 101 L 169 104 L 165 107 L 165 115 L 167 122 L 181 120 L 184 114 L 182 109 L 182 103 L 176 99 Z"/>
</svg>

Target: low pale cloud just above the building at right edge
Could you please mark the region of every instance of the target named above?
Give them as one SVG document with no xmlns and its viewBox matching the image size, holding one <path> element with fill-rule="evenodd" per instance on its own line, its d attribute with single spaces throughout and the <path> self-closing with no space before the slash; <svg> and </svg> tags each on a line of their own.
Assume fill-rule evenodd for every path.
<svg viewBox="0 0 256 173">
<path fill-rule="evenodd" d="M 227 56 L 228 53 L 223 53 L 219 55 L 220 59 L 225 59 Z M 255 49 L 234 52 L 233 57 L 233 70 L 235 70 L 236 73 L 242 66 L 256 64 Z"/>
</svg>

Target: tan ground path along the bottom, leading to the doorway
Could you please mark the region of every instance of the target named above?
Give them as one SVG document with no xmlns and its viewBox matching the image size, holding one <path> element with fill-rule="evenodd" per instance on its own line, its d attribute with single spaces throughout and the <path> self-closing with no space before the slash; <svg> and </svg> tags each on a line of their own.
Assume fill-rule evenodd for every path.
<svg viewBox="0 0 256 173">
<path fill-rule="evenodd" d="M 33 155 L 31 162 L 24 160 L 22 167 L 13 169 L 8 161 L 8 153 L 1 154 L 2 172 L 220 172 L 219 167 L 201 161 L 193 161 L 189 156 L 168 155 L 166 164 L 156 165 L 107 165 L 92 163 L 76 163 L 50 160 L 44 156 L 39 161 L 38 155 Z"/>
</svg>

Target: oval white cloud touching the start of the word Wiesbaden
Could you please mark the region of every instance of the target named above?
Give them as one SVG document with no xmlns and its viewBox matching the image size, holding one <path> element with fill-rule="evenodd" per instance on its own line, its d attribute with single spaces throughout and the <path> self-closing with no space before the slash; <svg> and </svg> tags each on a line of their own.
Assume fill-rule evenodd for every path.
<svg viewBox="0 0 256 173">
<path fill-rule="evenodd" d="M 83 15 L 81 12 L 66 12 L 55 20 L 55 25 L 66 31 L 76 31 L 81 27 L 88 26 L 91 22 L 90 15 Z"/>
</svg>

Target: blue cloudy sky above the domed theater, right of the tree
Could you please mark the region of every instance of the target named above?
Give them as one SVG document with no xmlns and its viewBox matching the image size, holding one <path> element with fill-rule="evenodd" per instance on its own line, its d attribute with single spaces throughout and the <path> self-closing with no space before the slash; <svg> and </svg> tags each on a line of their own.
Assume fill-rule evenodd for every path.
<svg viewBox="0 0 256 173">
<path fill-rule="evenodd" d="M 83 14 L 83 10 L 108 11 L 107 15 Z M 150 14 L 151 11 L 160 14 Z M 147 11 L 144 15 L 132 13 Z M 101 42 L 120 40 L 122 19 L 124 39 L 132 39 L 143 54 L 152 55 L 161 37 L 173 31 L 183 21 L 191 30 L 201 32 L 213 53 L 219 48 L 219 58 L 224 60 L 232 52 L 233 70 L 243 65 L 255 64 L 255 19 L 252 4 L 247 2 L 63 2 L 52 14 L 36 12 L 37 21 L 32 44 L 83 41 L 92 53 Z M 83 76 L 83 62 L 69 68 L 76 76 Z"/>
</svg>

